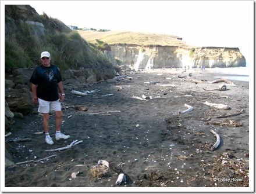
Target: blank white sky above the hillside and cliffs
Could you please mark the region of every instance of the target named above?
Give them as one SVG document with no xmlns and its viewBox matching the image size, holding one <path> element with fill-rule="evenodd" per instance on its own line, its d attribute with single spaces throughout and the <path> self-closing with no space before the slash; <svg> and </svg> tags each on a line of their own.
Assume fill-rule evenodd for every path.
<svg viewBox="0 0 256 194">
<path fill-rule="evenodd" d="M 239 47 L 247 63 L 253 49 L 254 1 L 25 2 L 79 28 L 154 32 L 180 36 L 191 46 Z"/>
</svg>

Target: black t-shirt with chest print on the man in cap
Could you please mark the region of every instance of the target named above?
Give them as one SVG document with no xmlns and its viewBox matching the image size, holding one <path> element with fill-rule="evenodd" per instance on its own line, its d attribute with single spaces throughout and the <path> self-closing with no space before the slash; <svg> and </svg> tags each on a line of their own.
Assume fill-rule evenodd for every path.
<svg viewBox="0 0 256 194">
<path fill-rule="evenodd" d="M 58 100 L 58 83 L 61 80 L 61 74 L 55 65 L 38 66 L 30 78 L 30 82 L 37 85 L 37 97 L 45 101 Z"/>
</svg>

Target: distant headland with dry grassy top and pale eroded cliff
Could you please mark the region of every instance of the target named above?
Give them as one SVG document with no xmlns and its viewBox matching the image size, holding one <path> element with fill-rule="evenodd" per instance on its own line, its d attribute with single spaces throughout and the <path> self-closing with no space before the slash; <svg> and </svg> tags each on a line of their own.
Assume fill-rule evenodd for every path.
<svg viewBox="0 0 256 194">
<path fill-rule="evenodd" d="M 79 34 L 92 43 L 97 40 L 108 43 L 110 49 L 103 52 L 112 63 L 118 59 L 134 69 L 246 67 L 246 58 L 236 47 L 193 47 L 177 36 L 141 32 L 79 31 Z"/>
</svg>

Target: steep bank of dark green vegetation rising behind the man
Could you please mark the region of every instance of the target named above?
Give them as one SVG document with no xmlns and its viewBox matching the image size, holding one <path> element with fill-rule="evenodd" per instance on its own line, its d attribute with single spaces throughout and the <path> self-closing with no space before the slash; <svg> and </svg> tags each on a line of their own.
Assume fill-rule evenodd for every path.
<svg viewBox="0 0 256 194">
<path fill-rule="evenodd" d="M 39 33 L 26 21 L 43 24 L 44 32 Z M 12 74 L 16 68 L 41 64 L 40 53 L 45 50 L 51 53 L 52 64 L 63 70 L 113 68 L 111 61 L 101 53 L 101 44 L 88 43 L 77 31 L 45 13 L 39 15 L 29 5 L 5 5 L 5 26 L 6 74 Z"/>
</svg>

